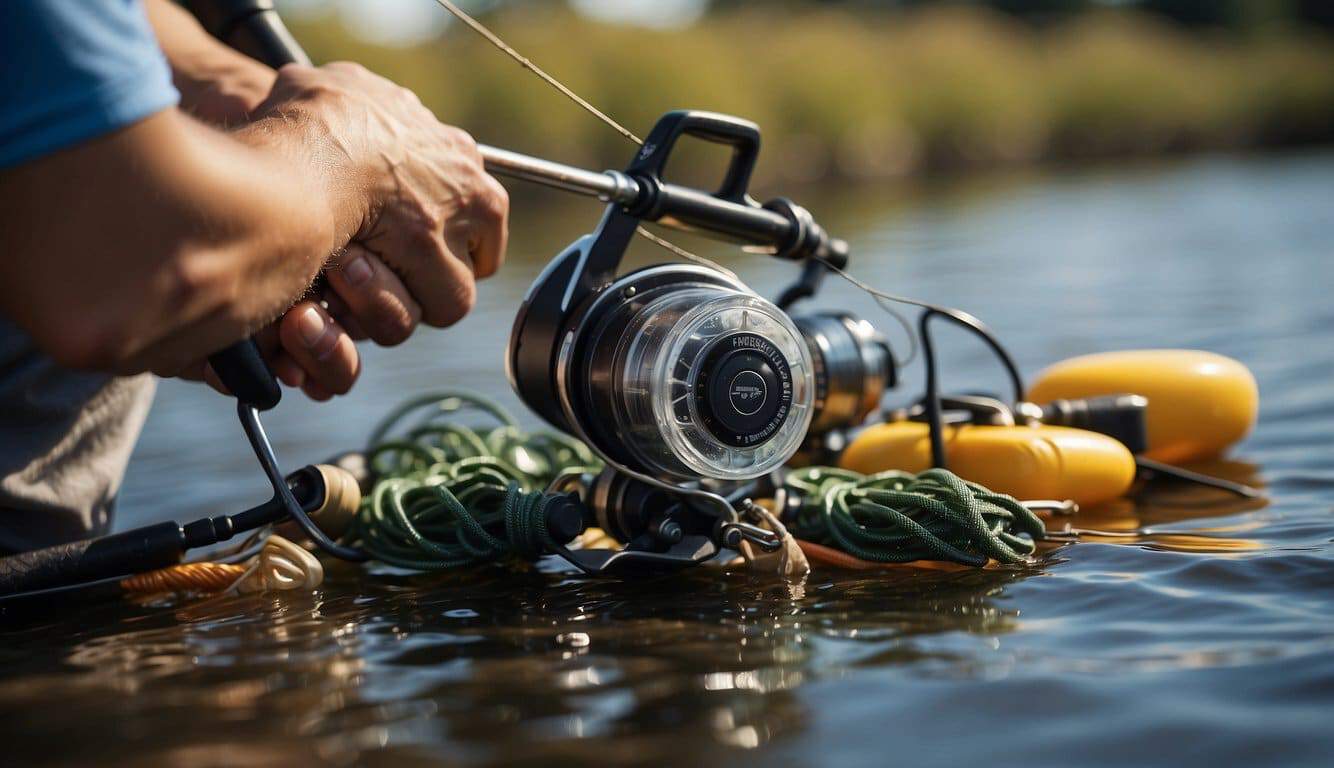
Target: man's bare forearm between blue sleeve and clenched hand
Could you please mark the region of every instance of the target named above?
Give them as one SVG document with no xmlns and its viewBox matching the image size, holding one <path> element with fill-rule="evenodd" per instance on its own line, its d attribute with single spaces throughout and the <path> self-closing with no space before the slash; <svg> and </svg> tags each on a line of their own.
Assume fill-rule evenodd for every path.
<svg viewBox="0 0 1334 768">
<path fill-rule="evenodd" d="M 0 175 L 0 311 L 75 367 L 196 360 L 275 319 L 364 211 L 324 137 L 176 111 Z"/>
</svg>

